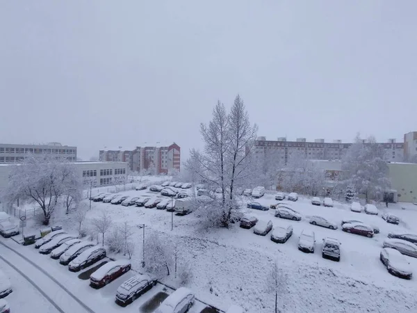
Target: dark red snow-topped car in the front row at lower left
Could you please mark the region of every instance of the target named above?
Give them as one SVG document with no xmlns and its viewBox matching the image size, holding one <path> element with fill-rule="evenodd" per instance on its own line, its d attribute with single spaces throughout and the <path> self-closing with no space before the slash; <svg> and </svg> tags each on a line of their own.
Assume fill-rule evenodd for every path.
<svg viewBox="0 0 417 313">
<path fill-rule="evenodd" d="M 90 275 L 90 286 L 95 288 L 104 287 L 130 270 L 131 262 L 127 259 L 107 262 Z"/>
</svg>

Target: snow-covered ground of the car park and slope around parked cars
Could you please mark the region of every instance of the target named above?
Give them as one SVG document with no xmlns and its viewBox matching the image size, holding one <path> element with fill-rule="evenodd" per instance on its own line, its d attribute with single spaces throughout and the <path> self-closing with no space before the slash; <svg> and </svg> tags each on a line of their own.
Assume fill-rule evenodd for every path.
<svg viewBox="0 0 417 313">
<path fill-rule="evenodd" d="M 149 191 L 132 190 L 119 193 L 158 195 Z M 243 207 L 249 200 L 252 199 L 243 200 Z M 263 198 L 255 201 L 268 207 L 275 202 L 273 194 L 265 194 Z M 379 208 L 381 213 L 388 211 L 402 219 L 400 225 L 391 225 L 382 220 L 381 214 L 379 216 L 369 216 L 363 212 L 357 214 L 351 212 L 347 204 L 338 202 L 334 202 L 334 207 L 316 207 L 309 199 L 300 197 L 297 202 L 291 204 L 302 214 L 303 218 L 300 222 L 275 218 L 274 209 L 269 211 L 245 209 L 259 220 L 272 220 L 275 227 L 292 225 L 293 236 L 284 244 L 270 241 L 270 234 L 256 236 L 253 234 L 253 229 L 244 230 L 238 225 L 232 225 L 229 230 L 205 232 L 199 227 L 198 218 L 193 213 L 188 216 L 174 215 L 173 231 L 171 231 L 172 214 L 165 210 L 92 202 L 92 210 L 88 212 L 87 218 L 97 216 L 101 211 L 107 211 L 112 215 L 115 225 L 124 221 L 128 221 L 133 226 L 145 223 L 145 238 L 151 236 L 152 232 L 158 232 L 167 242 L 181 243 L 179 262 L 189 262 L 194 274 L 188 287 L 195 291 L 197 298 L 221 310 L 227 310 L 229 305 L 235 303 L 243 306 L 247 312 L 272 312 L 275 307 L 275 296 L 266 292 L 265 281 L 270 267 L 277 260 L 282 272 L 286 274 L 283 292 L 279 294 L 279 307 L 282 312 L 417 312 L 415 297 L 417 278 L 411 280 L 396 278 L 389 274 L 379 261 L 382 242 L 389 232 L 417 232 L 417 206 L 390 204 L 388 209 Z M 309 224 L 307 218 L 312 215 L 320 215 L 334 221 L 338 225 L 338 230 Z M 375 234 L 372 239 L 347 234 L 341 230 L 342 219 L 362 220 L 379 227 L 380 233 Z M 52 224 L 63 225 L 67 231 L 76 231 L 71 214 L 55 218 Z M 132 263 L 133 268 L 140 269 L 142 230 L 139 227 L 134 228 L 136 248 Z M 302 230 L 313 230 L 316 233 L 315 253 L 305 254 L 297 250 L 297 240 Z M 321 241 L 326 236 L 341 241 L 341 262 L 322 259 Z M 121 283 L 125 278 L 119 278 L 104 289 L 96 291 L 88 287 L 87 282 L 77 279 L 76 274 L 68 272 L 67 268 L 60 266 L 58 262 L 52 261 L 49 257 L 46 257 L 48 262 L 42 261 L 45 256 L 39 255 L 33 247 L 17 244 L 16 246 L 22 250 L 22 253 L 31 255 L 34 262 L 44 264 L 54 275 L 62 278 L 65 286 L 79 293 L 85 303 L 93 303 L 91 305 L 96 307 L 96 312 L 122 310 L 113 301 L 116 284 Z M 417 275 L 417 259 L 411 257 L 407 259 L 414 268 L 414 275 Z M 178 287 L 173 275 L 162 281 Z M 97 298 L 97 293 L 101 298 Z M 96 300 L 92 301 L 91 298 Z M 142 300 L 145 300 L 145 296 Z M 140 301 L 123 310 L 141 312 Z M 104 310 L 104 307 L 108 309 Z M 191 312 L 201 312 L 201 310 L 202 307 L 194 307 Z"/>
</svg>

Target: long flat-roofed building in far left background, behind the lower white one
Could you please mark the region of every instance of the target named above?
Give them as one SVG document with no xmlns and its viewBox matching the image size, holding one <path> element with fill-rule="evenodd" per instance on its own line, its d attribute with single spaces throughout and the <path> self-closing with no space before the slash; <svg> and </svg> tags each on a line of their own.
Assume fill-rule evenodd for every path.
<svg viewBox="0 0 417 313">
<path fill-rule="evenodd" d="M 76 147 L 47 143 L 40 145 L 15 145 L 0 143 L 0 163 L 20 163 L 29 153 L 49 154 L 64 157 L 68 161 L 76 161 Z"/>
</svg>

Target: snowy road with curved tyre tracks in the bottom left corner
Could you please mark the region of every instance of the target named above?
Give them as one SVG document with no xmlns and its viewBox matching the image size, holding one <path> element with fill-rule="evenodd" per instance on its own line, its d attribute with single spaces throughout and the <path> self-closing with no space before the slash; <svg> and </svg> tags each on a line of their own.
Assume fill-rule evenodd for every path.
<svg viewBox="0 0 417 313">
<path fill-rule="evenodd" d="M 0 242 L 0 259 L 6 262 L 20 273 L 33 287 L 38 289 L 40 294 L 44 296 L 51 305 L 54 305 L 56 312 L 88 312 L 94 313 L 89 307 L 84 305 L 79 298 L 76 298 L 68 291 L 60 282 L 53 278 L 47 271 L 37 264 L 31 262 L 30 259 L 15 251 L 12 248 Z M 13 284 L 13 281 L 12 281 Z"/>
</svg>

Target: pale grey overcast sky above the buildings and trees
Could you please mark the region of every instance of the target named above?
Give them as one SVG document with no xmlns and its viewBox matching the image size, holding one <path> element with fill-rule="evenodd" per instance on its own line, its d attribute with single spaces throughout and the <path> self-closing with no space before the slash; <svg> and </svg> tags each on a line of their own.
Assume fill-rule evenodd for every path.
<svg viewBox="0 0 417 313">
<path fill-rule="evenodd" d="M 240 94 L 259 136 L 417 131 L 417 1 L 0 1 L 0 143 L 202 147 Z"/>
</svg>

